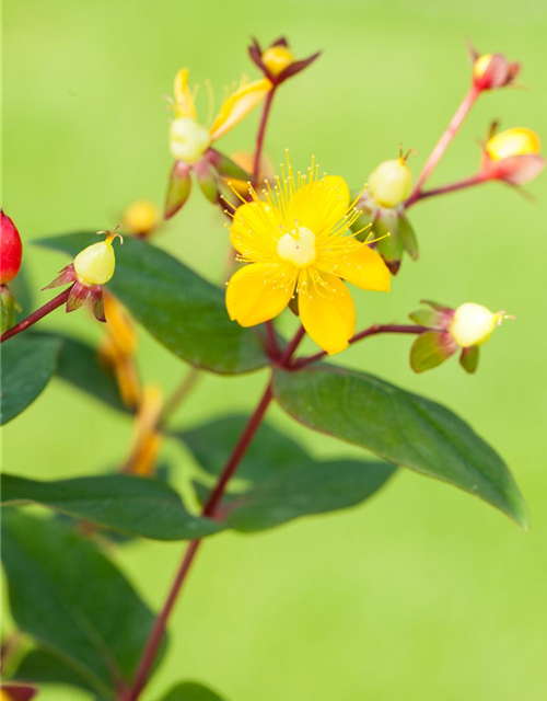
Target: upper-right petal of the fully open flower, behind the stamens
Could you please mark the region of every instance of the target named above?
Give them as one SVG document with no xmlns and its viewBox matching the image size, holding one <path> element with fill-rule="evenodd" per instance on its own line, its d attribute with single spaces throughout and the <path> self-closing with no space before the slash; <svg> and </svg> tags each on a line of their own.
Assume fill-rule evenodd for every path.
<svg viewBox="0 0 547 701">
<path fill-rule="evenodd" d="M 298 189 L 287 208 L 287 226 L 294 221 L 319 237 L 338 223 L 349 207 L 349 187 L 344 177 L 326 175 Z"/>
</svg>

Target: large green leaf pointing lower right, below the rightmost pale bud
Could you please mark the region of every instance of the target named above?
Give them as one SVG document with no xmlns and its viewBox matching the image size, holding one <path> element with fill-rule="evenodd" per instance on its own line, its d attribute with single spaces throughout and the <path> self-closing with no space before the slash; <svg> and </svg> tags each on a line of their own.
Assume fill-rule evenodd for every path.
<svg viewBox="0 0 547 701">
<path fill-rule="evenodd" d="M 310 428 L 459 486 L 527 526 L 524 499 L 502 459 L 444 406 L 330 365 L 276 369 L 274 393 Z"/>
</svg>

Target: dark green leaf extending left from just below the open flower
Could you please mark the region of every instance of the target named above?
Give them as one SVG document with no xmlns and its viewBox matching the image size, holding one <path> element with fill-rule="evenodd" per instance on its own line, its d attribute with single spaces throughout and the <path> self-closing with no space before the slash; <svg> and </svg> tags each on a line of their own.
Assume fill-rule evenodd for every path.
<svg viewBox="0 0 547 701">
<path fill-rule="evenodd" d="M 40 243 L 75 255 L 95 238 L 72 233 Z M 116 260 L 108 289 L 179 358 L 220 374 L 248 372 L 268 364 L 256 330 L 230 321 L 223 290 L 138 239 L 127 237 Z"/>
</svg>

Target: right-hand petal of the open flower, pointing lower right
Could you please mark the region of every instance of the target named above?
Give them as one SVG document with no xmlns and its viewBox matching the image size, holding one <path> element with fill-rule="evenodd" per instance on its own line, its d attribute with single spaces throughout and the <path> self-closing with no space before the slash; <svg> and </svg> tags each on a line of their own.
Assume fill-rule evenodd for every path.
<svg viewBox="0 0 547 701">
<path fill-rule="evenodd" d="M 366 243 L 348 241 L 348 251 L 336 262 L 333 273 L 348 283 L 376 292 L 388 292 L 392 276 L 384 260 Z"/>
</svg>

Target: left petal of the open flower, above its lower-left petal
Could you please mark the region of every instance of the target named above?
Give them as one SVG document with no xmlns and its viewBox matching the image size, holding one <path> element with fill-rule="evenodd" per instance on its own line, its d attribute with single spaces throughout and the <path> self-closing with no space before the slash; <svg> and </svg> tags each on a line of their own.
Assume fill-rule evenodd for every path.
<svg viewBox="0 0 547 701">
<path fill-rule="evenodd" d="M 251 202 L 235 210 L 230 241 L 245 258 L 260 262 L 276 256 L 279 238 L 279 223 L 266 203 Z"/>
</svg>

